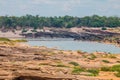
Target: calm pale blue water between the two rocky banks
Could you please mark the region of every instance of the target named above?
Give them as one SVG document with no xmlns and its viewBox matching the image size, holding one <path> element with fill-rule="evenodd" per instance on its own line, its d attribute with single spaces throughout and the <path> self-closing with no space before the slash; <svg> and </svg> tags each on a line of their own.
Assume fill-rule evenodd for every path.
<svg viewBox="0 0 120 80">
<path fill-rule="evenodd" d="M 46 46 L 48 48 L 57 48 L 60 50 L 82 50 L 84 52 L 110 52 L 120 53 L 120 47 L 111 44 L 89 42 L 89 41 L 73 41 L 73 40 L 28 40 L 28 44 L 32 46 Z"/>
</svg>

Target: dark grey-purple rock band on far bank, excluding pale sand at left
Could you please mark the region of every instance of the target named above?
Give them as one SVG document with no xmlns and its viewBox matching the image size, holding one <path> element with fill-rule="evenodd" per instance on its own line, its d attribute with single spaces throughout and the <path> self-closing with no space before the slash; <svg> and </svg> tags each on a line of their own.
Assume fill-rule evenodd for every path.
<svg viewBox="0 0 120 80">
<path fill-rule="evenodd" d="M 83 41 L 101 41 L 120 45 L 120 33 L 113 33 L 102 30 L 84 29 L 82 32 L 71 32 L 65 30 L 52 30 L 51 32 L 36 32 L 22 34 L 26 38 L 73 38 L 74 40 Z"/>
</svg>

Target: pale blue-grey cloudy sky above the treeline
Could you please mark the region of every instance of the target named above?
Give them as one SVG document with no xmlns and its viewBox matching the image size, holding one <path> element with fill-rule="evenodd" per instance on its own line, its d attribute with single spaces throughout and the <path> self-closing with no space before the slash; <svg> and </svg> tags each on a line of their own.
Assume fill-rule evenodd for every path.
<svg viewBox="0 0 120 80">
<path fill-rule="evenodd" d="M 120 16 L 120 0 L 0 0 L 0 16 Z"/>
</svg>

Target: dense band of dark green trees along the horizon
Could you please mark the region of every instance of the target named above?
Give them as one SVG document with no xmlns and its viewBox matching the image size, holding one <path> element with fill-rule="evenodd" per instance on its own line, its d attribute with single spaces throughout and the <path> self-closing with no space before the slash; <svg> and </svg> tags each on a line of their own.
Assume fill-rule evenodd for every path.
<svg viewBox="0 0 120 80">
<path fill-rule="evenodd" d="M 71 28 L 71 27 L 120 27 L 120 17 L 106 16 L 59 16 L 59 17 L 41 17 L 39 15 L 16 16 L 0 16 L 1 28 L 21 28 L 32 27 L 34 29 L 46 27 Z"/>
</svg>

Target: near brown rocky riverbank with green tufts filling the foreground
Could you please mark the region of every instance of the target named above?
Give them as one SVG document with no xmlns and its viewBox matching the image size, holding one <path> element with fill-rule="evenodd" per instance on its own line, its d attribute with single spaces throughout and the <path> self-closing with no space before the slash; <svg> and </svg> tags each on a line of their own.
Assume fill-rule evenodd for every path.
<svg viewBox="0 0 120 80">
<path fill-rule="evenodd" d="M 0 44 L 0 79 L 119 80 L 119 72 L 112 71 L 114 65 L 119 67 L 119 61 L 120 54 L 4 43 Z"/>
</svg>

